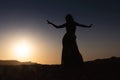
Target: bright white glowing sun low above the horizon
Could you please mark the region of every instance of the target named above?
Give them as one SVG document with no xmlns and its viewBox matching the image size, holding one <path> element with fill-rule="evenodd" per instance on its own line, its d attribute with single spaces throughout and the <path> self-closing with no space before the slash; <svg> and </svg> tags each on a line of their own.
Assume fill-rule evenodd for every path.
<svg viewBox="0 0 120 80">
<path fill-rule="evenodd" d="M 14 53 L 18 59 L 26 59 L 30 56 L 31 47 L 28 42 L 21 41 L 15 44 Z"/>
</svg>

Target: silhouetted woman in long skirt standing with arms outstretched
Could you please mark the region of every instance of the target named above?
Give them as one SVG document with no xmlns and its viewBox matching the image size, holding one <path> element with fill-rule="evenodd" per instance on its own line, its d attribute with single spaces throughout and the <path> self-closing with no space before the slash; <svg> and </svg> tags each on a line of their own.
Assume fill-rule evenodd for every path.
<svg viewBox="0 0 120 80">
<path fill-rule="evenodd" d="M 74 21 L 72 15 L 68 14 L 66 16 L 66 23 L 62 25 L 55 25 L 52 22 L 48 21 L 48 24 L 53 25 L 56 28 L 66 28 L 66 34 L 63 37 L 63 50 L 62 50 L 62 65 L 64 66 L 73 66 L 81 65 L 83 63 L 83 58 L 78 50 L 76 43 L 76 26 L 90 28 L 92 26 L 79 24 Z"/>
</svg>

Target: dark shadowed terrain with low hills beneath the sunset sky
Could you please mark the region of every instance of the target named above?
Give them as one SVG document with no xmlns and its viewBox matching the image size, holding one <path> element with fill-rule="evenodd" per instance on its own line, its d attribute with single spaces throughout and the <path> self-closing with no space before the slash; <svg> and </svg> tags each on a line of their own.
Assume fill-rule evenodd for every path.
<svg viewBox="0 0 120 80">
<path fill-rule="evenodd" d="M 120 80 L 120 58 L 88 61 L 81 67 L 0 60 L 0 80 Z"/>
</svg>

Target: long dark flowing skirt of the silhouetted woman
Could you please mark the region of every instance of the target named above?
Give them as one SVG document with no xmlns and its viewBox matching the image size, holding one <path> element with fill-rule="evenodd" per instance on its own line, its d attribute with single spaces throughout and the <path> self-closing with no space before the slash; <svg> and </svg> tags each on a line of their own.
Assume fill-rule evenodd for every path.
<svg viewBox="0 0 120 80">
<path fill-rule="evenodd" d="M 74 66 L 83 64 L 83 58 L 78 50 L 75 34 L 66 33 L 62 44 L 62 65 Z"/>
</svg>

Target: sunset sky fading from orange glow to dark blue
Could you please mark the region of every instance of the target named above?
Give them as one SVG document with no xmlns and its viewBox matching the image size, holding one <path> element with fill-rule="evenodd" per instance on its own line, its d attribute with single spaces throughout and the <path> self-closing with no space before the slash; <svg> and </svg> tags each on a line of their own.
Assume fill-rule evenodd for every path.
<svg viewBox="0 0 120 80">
<path fill-rule="evenodd" d="M 56 29 L 70 13 L 77 27 L 79 51 L 84 61 L 120 57 L 119 0 L 0 0 L 0 59 L 60 64 L 65 29 Z M 20 57 L 15 47 L 22 41 L 29 54 Z M 17 46 L 15 46 L 17 45 Z M 15 56 L 16 55 L 16 56 Z"/>
</svg>

